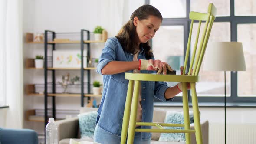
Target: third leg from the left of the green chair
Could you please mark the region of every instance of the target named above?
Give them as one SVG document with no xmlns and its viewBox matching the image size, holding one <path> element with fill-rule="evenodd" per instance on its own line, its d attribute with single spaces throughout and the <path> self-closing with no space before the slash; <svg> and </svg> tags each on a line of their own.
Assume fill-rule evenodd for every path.
<svg viewBox="0 0 256 144">
<path fill-rule="evenodd" d="M 183 115 L 184 115 L 184 129 L 190 130 L 190 118 L 188 108 L 188 97 L 187 97 L 187 83 L 182 82 L 182 103 L 183 103 Z M 190 144 L 190 133 L 185 133 L 186 144 Z"/>
</svg>

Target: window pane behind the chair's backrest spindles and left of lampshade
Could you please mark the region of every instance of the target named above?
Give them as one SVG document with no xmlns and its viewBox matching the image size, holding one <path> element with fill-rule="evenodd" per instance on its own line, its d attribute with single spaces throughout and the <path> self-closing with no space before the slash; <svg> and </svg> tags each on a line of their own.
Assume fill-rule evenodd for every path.
<svg viewBox="0 0 256 144">
<path fill-rule="evenodd" d="M 202 36 L 205 23 L 201 24 L 200 35 Z M 194 23 L 190 52 L 194 50 L 195 36 L 198 23 Z M 220 33 L 221 32 L 221 33 Z M 230 23 L 215 22 L 211 30 L 209 43 L 211 41 L 230 41 Z M 199 42 L 198 42 L 199 43 Z M 226 96 L 230 96 L 230 73 L 226 72 Z M 203 70 L 203 63 L 200 69 L 200 82 L 197 83 L 197 96 L 223 96 L 224 94 L 224 72 L 210 72 Z"/>
</svg>

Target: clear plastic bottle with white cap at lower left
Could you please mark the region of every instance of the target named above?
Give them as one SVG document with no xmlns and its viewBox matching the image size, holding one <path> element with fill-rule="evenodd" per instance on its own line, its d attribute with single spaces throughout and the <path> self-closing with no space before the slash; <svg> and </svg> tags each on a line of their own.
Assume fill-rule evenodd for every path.
<svg viewBox="0 0 256 144">
<path fill-rule="evenodd" d="M 54 118 L 49 118 L 49 122 L 45 127 L 46 144 L 58 144 L 57 126 L 54 124 Z"/>
</svg>

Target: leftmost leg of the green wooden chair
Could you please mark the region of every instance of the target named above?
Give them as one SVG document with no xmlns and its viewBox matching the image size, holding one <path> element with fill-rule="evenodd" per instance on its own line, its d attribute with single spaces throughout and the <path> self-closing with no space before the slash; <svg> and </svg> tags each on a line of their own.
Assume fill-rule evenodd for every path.
<svg viewBox="0 0 256 144">
<path fill-rule="evenodd" d="M 121 144 L 125 144 L 127 131 L 128 131 L 128 124 L 130 119 L 130 111 L 131 111 L 131 99 L 132 99 L 132 92 L 133 92 L 133 80 L 129 80 L 127 96 L 125 101 L 125 111 L 123 117 L 123 124 L 122 124 L 122 133 L 121 133 Z"/>
</svg>

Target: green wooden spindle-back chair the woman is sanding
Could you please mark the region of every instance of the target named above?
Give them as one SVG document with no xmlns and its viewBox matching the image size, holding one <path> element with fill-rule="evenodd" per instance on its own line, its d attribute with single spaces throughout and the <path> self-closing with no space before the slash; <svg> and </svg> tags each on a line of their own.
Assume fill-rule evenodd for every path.
<svg viewBox="0 0 256 144">
<path fill-rule="evenodd" d="M 202 134 L 200 125 L 200 114 L 197 102 L 197 92 L 195 83 L 198 82 L 198 73 L 203 60 L 203 55 L 207 47 L 210 31 L 213 25 L 213 21 L 216 16 L 216 8 L 210 3 L 208 6 L 208 13 L 190 12 L 189 18 L 191 19 L 190 32 L 187 43 L 187 51 L 184 60 L 183 75 L 157 75 L 157 74 L 141 74 L 141 73 L 125 73 L 125 79 L 129 80 L 127 97 L 125 102 L 125 111 L 122 124 L 121 132 L 121 144 L 125 144 L 127 131 L 128 140 L 127 144 L 132 144 L 134 141 L 135 132 L 159 132 L 159 133 L 185 133 L 186 144 L 190 144 L 190 133 L 195 132 L 197 144 L 202 144 Z M 191 33 L 193 29 L 194 20 L 199 21 L 197 36 L 194 44 L 194 50 L 192 53 L 191 64 L 189 66 L 188 75 L 185 74 L 187 68 L 187 60 L 190 54 L 190 42 Z M 200 45 L 197 49 L 197 43 L 199 39 L 200 26 L 202 21 L 205 22 L 205 27 L 200 40 Z M 196 54 L 197 53 L 197 54 Z M 195 60 L 195 61 L 194 61 Z M 193 66 L 194 65 L 194 66 Z M 194 69 L 192 75 L 190 75 L 191 69 Z M 135 81 L 135 82 L 134 82 Z M 138 105 L 138 93 L 140 81 L 165 81 L 165 82 L 182 82 L 182 101 L 184 110 L 184 124 L 167 124 L 167 123 L 154 123 L 154 122 L 136 122 L 137 105 Z M 187 83 L 190 83 L 192 92 L 192 107 L 194 115 L 194 130 L 190 129 L 189 119 L 189 107 L 187 97 Z M 135 129 L 135 125 L 147 125 L 156 126 L 159 129 Z M 163 126 L 167 127 L 184 127 L 184 129 L 164 129 Z M 128 129 L 129 128 L 129 129 Z"/>
</svg>

